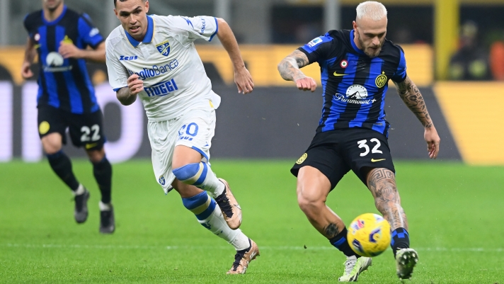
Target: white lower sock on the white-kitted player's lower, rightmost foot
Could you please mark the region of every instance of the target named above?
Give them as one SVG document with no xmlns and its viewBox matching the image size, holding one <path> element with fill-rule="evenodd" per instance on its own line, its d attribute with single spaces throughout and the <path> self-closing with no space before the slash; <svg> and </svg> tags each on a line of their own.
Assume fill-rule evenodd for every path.
<svg viewBox="0 0 504 284">
<path fill-rule="evenodd" d="M 224 221 L 224 216 L 219 208 L 219 205 L 215 204 L 214 211 L 207 219 L 198 220 L 203 227 L 210 230 L 218 237 L 225 239 L 229 244 L 234 246 L 236 251 L 241 251 L 243 249 L 248 249 L 250 243 L 248 242 L 248 237 L 241 232 L 241 229 L 231 229 Z"/>
</svg>

